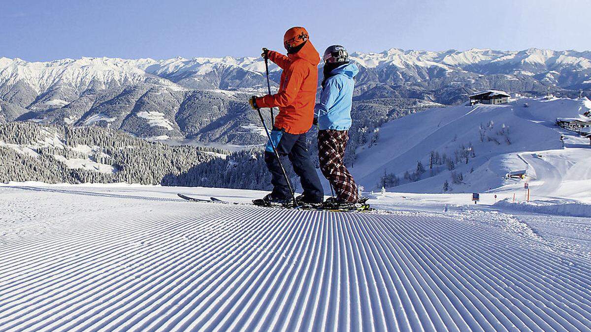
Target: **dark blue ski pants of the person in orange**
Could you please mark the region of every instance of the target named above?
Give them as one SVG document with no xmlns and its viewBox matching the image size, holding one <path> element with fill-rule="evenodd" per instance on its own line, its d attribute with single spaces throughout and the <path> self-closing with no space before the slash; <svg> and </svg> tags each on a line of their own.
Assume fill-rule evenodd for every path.
<svg viewBox="0 0 591 332">
<path fill-rule="evenodd" d="M 294 172 L 300 177 L 301 187 L 304 190 L 304 200 L 308 203 L 322 202 L 324 200 L 324 191 L 308 154 L 306 133 L 294 135 L 282 129 L 273 128 L 271 139 L 275 148 L 277 148 L 283 167 L 287 168 L 287 161 L 289 160 Z M 271 141 L 265 147 L 265 163 L 269 171 L 271 171 L 272 196 L 290 198 L 290 189 L 271 147 Z"/>
</svg>

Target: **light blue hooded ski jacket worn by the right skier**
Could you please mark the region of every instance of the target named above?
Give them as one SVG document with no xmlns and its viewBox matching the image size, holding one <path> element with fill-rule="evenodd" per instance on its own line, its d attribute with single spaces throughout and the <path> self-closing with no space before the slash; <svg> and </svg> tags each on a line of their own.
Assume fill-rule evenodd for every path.
<svg viewBox="0 0 591 332">
<path fill-rule="evenodd" d="M 351 105 L 353 103 L 353 77 L 359 73 L 354 63 L 336 67 L 324 83 L 320 103 L 314 107 L 318 129 L 346 131 L 351 128 Z"/>
</svg>

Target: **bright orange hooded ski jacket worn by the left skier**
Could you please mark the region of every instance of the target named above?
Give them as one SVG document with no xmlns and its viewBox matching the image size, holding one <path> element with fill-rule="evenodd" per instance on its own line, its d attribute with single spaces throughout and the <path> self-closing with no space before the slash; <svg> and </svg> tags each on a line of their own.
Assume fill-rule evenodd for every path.
<svg viewBox="0 0 591 332">
<path fill-rule="evenodd" d="M 275 126 L 289 134 L 304 134 L 312 127 L 320 55 L 307 41 L 298 53 L 284 56 L 269 51 L 269 60 L 282 70 L 279 92 L 256 99 L 259 108 L 278 107 Z"/>
</svg>

